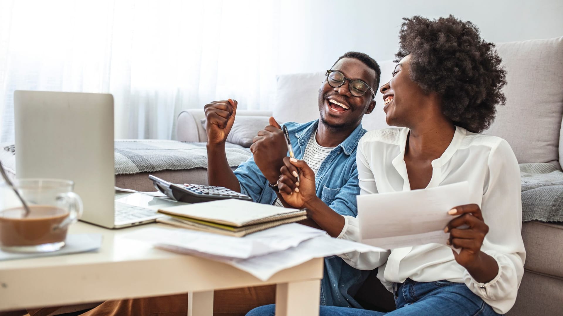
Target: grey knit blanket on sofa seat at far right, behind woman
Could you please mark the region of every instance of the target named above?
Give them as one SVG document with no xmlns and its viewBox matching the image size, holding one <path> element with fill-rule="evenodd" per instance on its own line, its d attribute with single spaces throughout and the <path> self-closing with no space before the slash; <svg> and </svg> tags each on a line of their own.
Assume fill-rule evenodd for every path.
<svg viewBox="0 0 563 316">
<path fill-rule="evenodd" d="M 563 172 L 553 164 L 520 164 L 522 222 L 563 222 Z"/>
</svg>

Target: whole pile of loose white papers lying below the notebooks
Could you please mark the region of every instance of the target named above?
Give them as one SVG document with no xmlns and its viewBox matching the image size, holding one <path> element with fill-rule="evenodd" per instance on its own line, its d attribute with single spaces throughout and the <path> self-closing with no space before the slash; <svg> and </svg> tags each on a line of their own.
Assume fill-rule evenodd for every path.
<svg viewBox="0 0 563 316">
<path fill-rule="evenodd" d="M 359 251 L 385 251 L 332 238 L 326 232 L 293 223 L 239 238 L 164 227 L 144 228 L 124 236 L 159 249 L 221 261 L 266 281 L 275 273 L 313 258 Z"/>
</svg>

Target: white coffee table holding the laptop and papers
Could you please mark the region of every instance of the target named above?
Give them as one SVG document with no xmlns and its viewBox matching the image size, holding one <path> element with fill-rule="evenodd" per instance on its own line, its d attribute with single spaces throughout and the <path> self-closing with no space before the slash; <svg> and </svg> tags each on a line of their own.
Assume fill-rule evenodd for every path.
<svg viewBox="0 0 563 316">
<path fill-rule="evenodd" d="M 212 316 L 213 290 L 276 284 L 276 315 L 319 314 L 322 258 L 262 282 L 227 264 L 123 238 L 145 227 L 112 230 L 79 222 L 70 233 L 104 235 L 98 252 L 0 261 L 0 311 L 189 292 L 187 314 Z"/>
</svg>

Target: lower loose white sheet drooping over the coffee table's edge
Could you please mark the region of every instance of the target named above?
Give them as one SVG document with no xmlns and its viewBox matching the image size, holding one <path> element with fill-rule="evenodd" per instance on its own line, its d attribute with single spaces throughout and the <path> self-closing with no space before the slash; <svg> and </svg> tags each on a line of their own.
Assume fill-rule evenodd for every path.
<svg viewBox="0 0 563 316">
<path fill-rule="evenodd" d="M 284 251 L 272 252 L 267 255 L 256 256 L 249 259 L 227 259 L 219 256 L 210 256 L 199 252 L 186 251 L 172 246 L 158 246 L 160 249 L 177 252 L 180 254 L 197 255 L 204 258 L 230 264 L 245 272 L 252 274 L 261 281 L 266 281 L 281 270 L 295 267 L 313 258 L 346 254 L 347 252 L 359 251 L 385 251 L 378 247 L 364 245 L 363 243 L 347 241 L 329 237 L 328 235 L 317 236 L 301 242 L 298 246 Z"/>
</svg>

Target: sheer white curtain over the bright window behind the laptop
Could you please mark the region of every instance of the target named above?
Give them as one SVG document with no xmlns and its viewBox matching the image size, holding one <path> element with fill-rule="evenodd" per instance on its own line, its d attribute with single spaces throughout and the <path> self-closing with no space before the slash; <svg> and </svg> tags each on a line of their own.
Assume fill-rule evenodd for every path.
<svg viewBox="0 0 563 316">
<path fill-rule="evenodd" d="M 116 138 L 175 136 L 183 109 L 269 109 L 273 1 L 0 0 L 0 142 L 14 90 L 111 93 Z"/>
</svg>

